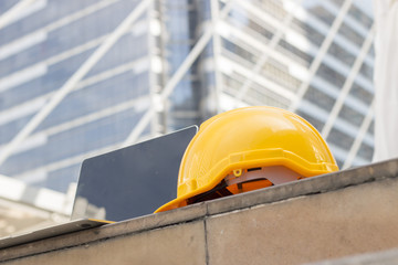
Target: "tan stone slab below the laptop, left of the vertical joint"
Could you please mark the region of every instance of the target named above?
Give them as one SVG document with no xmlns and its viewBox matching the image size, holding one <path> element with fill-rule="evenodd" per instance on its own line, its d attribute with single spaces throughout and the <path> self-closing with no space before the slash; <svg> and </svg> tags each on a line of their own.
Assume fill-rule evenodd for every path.
<svg viewBox="0 0 398 265">
<path fill-rule="evenodd" d="M 6 264 L 206 264 L 202 221 L 121 235 L 27 256 Z M 189 261 L 189 263 L 187 263 Z"/>
</svg>

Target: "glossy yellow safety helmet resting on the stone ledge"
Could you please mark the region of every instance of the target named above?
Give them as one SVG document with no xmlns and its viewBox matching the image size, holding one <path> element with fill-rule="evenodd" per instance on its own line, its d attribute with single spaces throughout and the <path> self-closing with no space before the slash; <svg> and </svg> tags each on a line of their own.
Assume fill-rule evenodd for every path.
<svg viewBox="0 0 398 265">
<path fill-rule="evenodd" d="M 177 198 L 156 212 L 337 170 L 325 140 L 302 117 L 237 108 L 200 126 L 181 160 Z"/>
</svg>

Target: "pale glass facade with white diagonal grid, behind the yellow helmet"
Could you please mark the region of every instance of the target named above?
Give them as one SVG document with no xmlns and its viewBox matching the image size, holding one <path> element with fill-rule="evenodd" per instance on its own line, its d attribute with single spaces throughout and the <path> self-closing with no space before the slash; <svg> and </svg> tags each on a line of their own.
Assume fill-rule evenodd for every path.
<svg viewBox="0 0 398 265">
<path fill-rule="evenodd" d="M 223 110 L 293 110 L 320 130 L 341 168 L 371 161 L 371 1 L 240 1 L 220 24 Z"/>
</svg>

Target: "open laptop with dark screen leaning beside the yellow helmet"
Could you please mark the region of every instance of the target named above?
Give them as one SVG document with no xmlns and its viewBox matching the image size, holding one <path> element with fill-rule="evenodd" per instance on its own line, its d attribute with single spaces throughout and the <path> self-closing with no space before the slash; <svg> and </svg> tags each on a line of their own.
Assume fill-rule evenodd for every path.
<svg viewBox="0 0 398 265">
<path fill-rule="evenodd" d="M 184 152 L 198 127 L 191 126 L 85 159 L 71 222 L 0 240 L 0 248 L 151 214 L 177 197 Z"/>
</svg>

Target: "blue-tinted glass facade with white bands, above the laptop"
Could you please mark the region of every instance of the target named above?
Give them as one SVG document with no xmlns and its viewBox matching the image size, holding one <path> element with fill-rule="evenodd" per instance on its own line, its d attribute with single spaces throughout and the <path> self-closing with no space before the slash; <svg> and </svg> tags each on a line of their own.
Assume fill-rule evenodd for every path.
<svg viewBox="0 0 398 265">
<path fill-rule="evenodd" d="M 0 150 L 139 2 L 38 0 L 29 7 L 34 12 L 0 29 Z M 0 10 L 12 7 L 0 2 Z M 12 151 L 0 173 L 66 192 L 84 158 L 121 146 L 150 106 L 148 40 L 146 11 Z"/>
</svg>

